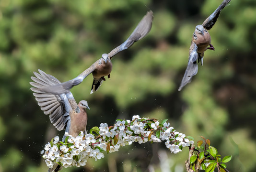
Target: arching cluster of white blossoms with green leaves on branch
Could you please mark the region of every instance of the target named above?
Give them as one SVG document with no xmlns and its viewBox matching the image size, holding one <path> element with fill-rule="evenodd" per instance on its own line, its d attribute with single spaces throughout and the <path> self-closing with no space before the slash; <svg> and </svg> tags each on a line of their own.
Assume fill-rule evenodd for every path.
<svg viewBox="0 0 256 172">
<path fill-rule="evenodd" d="M 178 153 L 183 147 L 193 143 L 193 140 L 188 140 L 185 134 L 175 131 L 165 121 L 160 124 L 157 119 L 140 118 L 136 115 L 132 117 L 132 121 L 118 119 L 110 127 L 102 123 L 99 128 L 93 127 L 90 134 L 85 136 L 82 131 L 76 138 L 65 133 L 65 142 L 59 141 L 56 136 L 46 144 L 43 158 L 49 168 L 54 163 L 65 168 L 74 165 L 80 167 L 86 164 L 88 158 L 94 158 L 95 161 L 104 158 L 102 151 L 115 152 L 121 146 L 130 145 L 132 142 L 141 144 L 166 140 L 166 147 L 173 153 Z"/>
</svg>

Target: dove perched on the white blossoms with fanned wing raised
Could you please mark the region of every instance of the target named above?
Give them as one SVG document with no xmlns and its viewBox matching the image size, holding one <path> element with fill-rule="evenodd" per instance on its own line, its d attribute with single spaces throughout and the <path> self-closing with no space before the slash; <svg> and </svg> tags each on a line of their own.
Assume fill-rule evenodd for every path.
<svg viewBox="0 0 256 172">
<path fill-rule="evenodd" d="M 44 111 L 46 115 L 49 114 L 51 123 L 58 130 L 66 129 L 73 137 L 76 137 L 80 131 L 84 131 L 86 134 L 86 124 L 87 124 L 87 113 L 86 108 L 88 107 L 87 101 L 81 100 L 77 105 L 72 93 L 70 91 L 53 95 L 42 92 L 39 88 L 44 86 L 52 86 L 59 84 L 59 80 L 54 76 L 46 74 L 45 72 L 38 69 L 39 73 L 34 72 L 35 76 L 31 79 L 35 82 L 30 82 L 34 87 L 30 88 L 35 96 L 35 100 L 38 105 Z M 64 135 L 62 141 L 64 141 L 66 136 Z"/>
</svg>

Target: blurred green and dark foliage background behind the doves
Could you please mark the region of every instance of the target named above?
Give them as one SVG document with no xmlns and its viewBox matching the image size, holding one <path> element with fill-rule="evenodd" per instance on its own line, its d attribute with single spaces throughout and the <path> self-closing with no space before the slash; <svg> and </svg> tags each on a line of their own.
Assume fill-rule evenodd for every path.
<svg viewBox="0 0 256 172">
<path fill-rule="evenodd" d="M 231 172 L 256 171 L 256 1 L 232 0 L 209 31 L 215 51 L 182 91 L 195 26 L 222 0 L 0 0 L 0 172 L 46 172 L 40 155 L 57 132 L 29 82 L 41 69 L 64 82 L 123 43 L 147 11 L 151 32 L 117 54 L 111 78 L 90 95 L 92 75 L 71 89 L 88 101 L 87 129 L 116 118 L 168 118 L 211 140 Z M 63 172 L 183 172 L 188 149 L 134 144 Z M 147 170 L 149 169 L 149 170 Z"/>
</svg>

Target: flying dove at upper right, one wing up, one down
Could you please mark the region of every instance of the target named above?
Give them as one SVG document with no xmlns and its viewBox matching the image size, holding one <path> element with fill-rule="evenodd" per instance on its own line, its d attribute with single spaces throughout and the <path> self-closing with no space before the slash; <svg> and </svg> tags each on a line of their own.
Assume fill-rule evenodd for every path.
<svg viewBox="0 0 256 172">
<path fill-rule="evenodd" d="M 192 36 L 191 45 L 189 48 L 189 57 L 188 64 L 186 67 L 185 74 L 181 81 L 179 91 L 186 86 L 186 84 L 190 83 L 192 80 L 192 76 L 198 73 L 198 63 L 201 62 L 203 65 L 204 52 L 209 50 L 214 50 L 214 47 L 210 43 L 210 35 L 209 30 L 217 21 L 221 10 L 230 2 L 230 0 L 223 0 L 221 5 L 203 22 L 202 25 L 197 25 L 195 32 Z M 209 45 L 209 47 L 208 47 Z"/>
</svg>

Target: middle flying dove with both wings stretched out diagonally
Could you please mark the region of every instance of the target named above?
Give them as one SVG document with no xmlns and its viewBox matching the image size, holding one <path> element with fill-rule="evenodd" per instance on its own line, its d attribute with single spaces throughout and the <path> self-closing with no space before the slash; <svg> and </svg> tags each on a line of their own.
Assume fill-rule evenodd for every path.
<svg viewBox="0 0 256 172">
<path fill-rule="evenodd" d="M 133 43 L 139 41 L 144 38 L 151 30 L 153 21 L 153 12 L 149 11 L 139 22 L 135 30 L 131 33 L 128 39 L 117 46 L 108 54 L 102 54 L 102 58 L 93 63 L 88 69 L 83 71 L 80 75 L 71 79 L 70 81 L 57 84 L 55 86 L 49 86 L 40 88 L 41 91 L 52 93 L 52 94 L 61 94 L 68 92 L 73 86 L 80 84 L 84 78 L 93 73 L 93 86 L 91 90 L 91 94 L 99 89 L 99 86 L 105 81 L 104 76 L 110 77 L 110 73 L 112 71 L 112 62 L 111 59 L 117 53 L 128 49 Z"/>
</svg>

